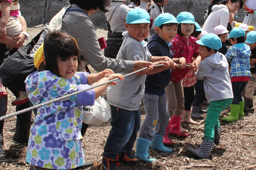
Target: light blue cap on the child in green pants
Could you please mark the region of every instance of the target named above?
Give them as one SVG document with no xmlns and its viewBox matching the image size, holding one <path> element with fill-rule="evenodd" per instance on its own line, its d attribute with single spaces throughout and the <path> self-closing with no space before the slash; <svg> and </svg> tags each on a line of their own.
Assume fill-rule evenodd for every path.
<svg viewBox="0 0 256 170">
<path fill-rule="evenodd" d="M 215 33 L 206 33 L 206 35 L 197 40 L 196 43 L 216 50 L 222 47 L 220 37 L 215 35 Z"/>
</svg>

